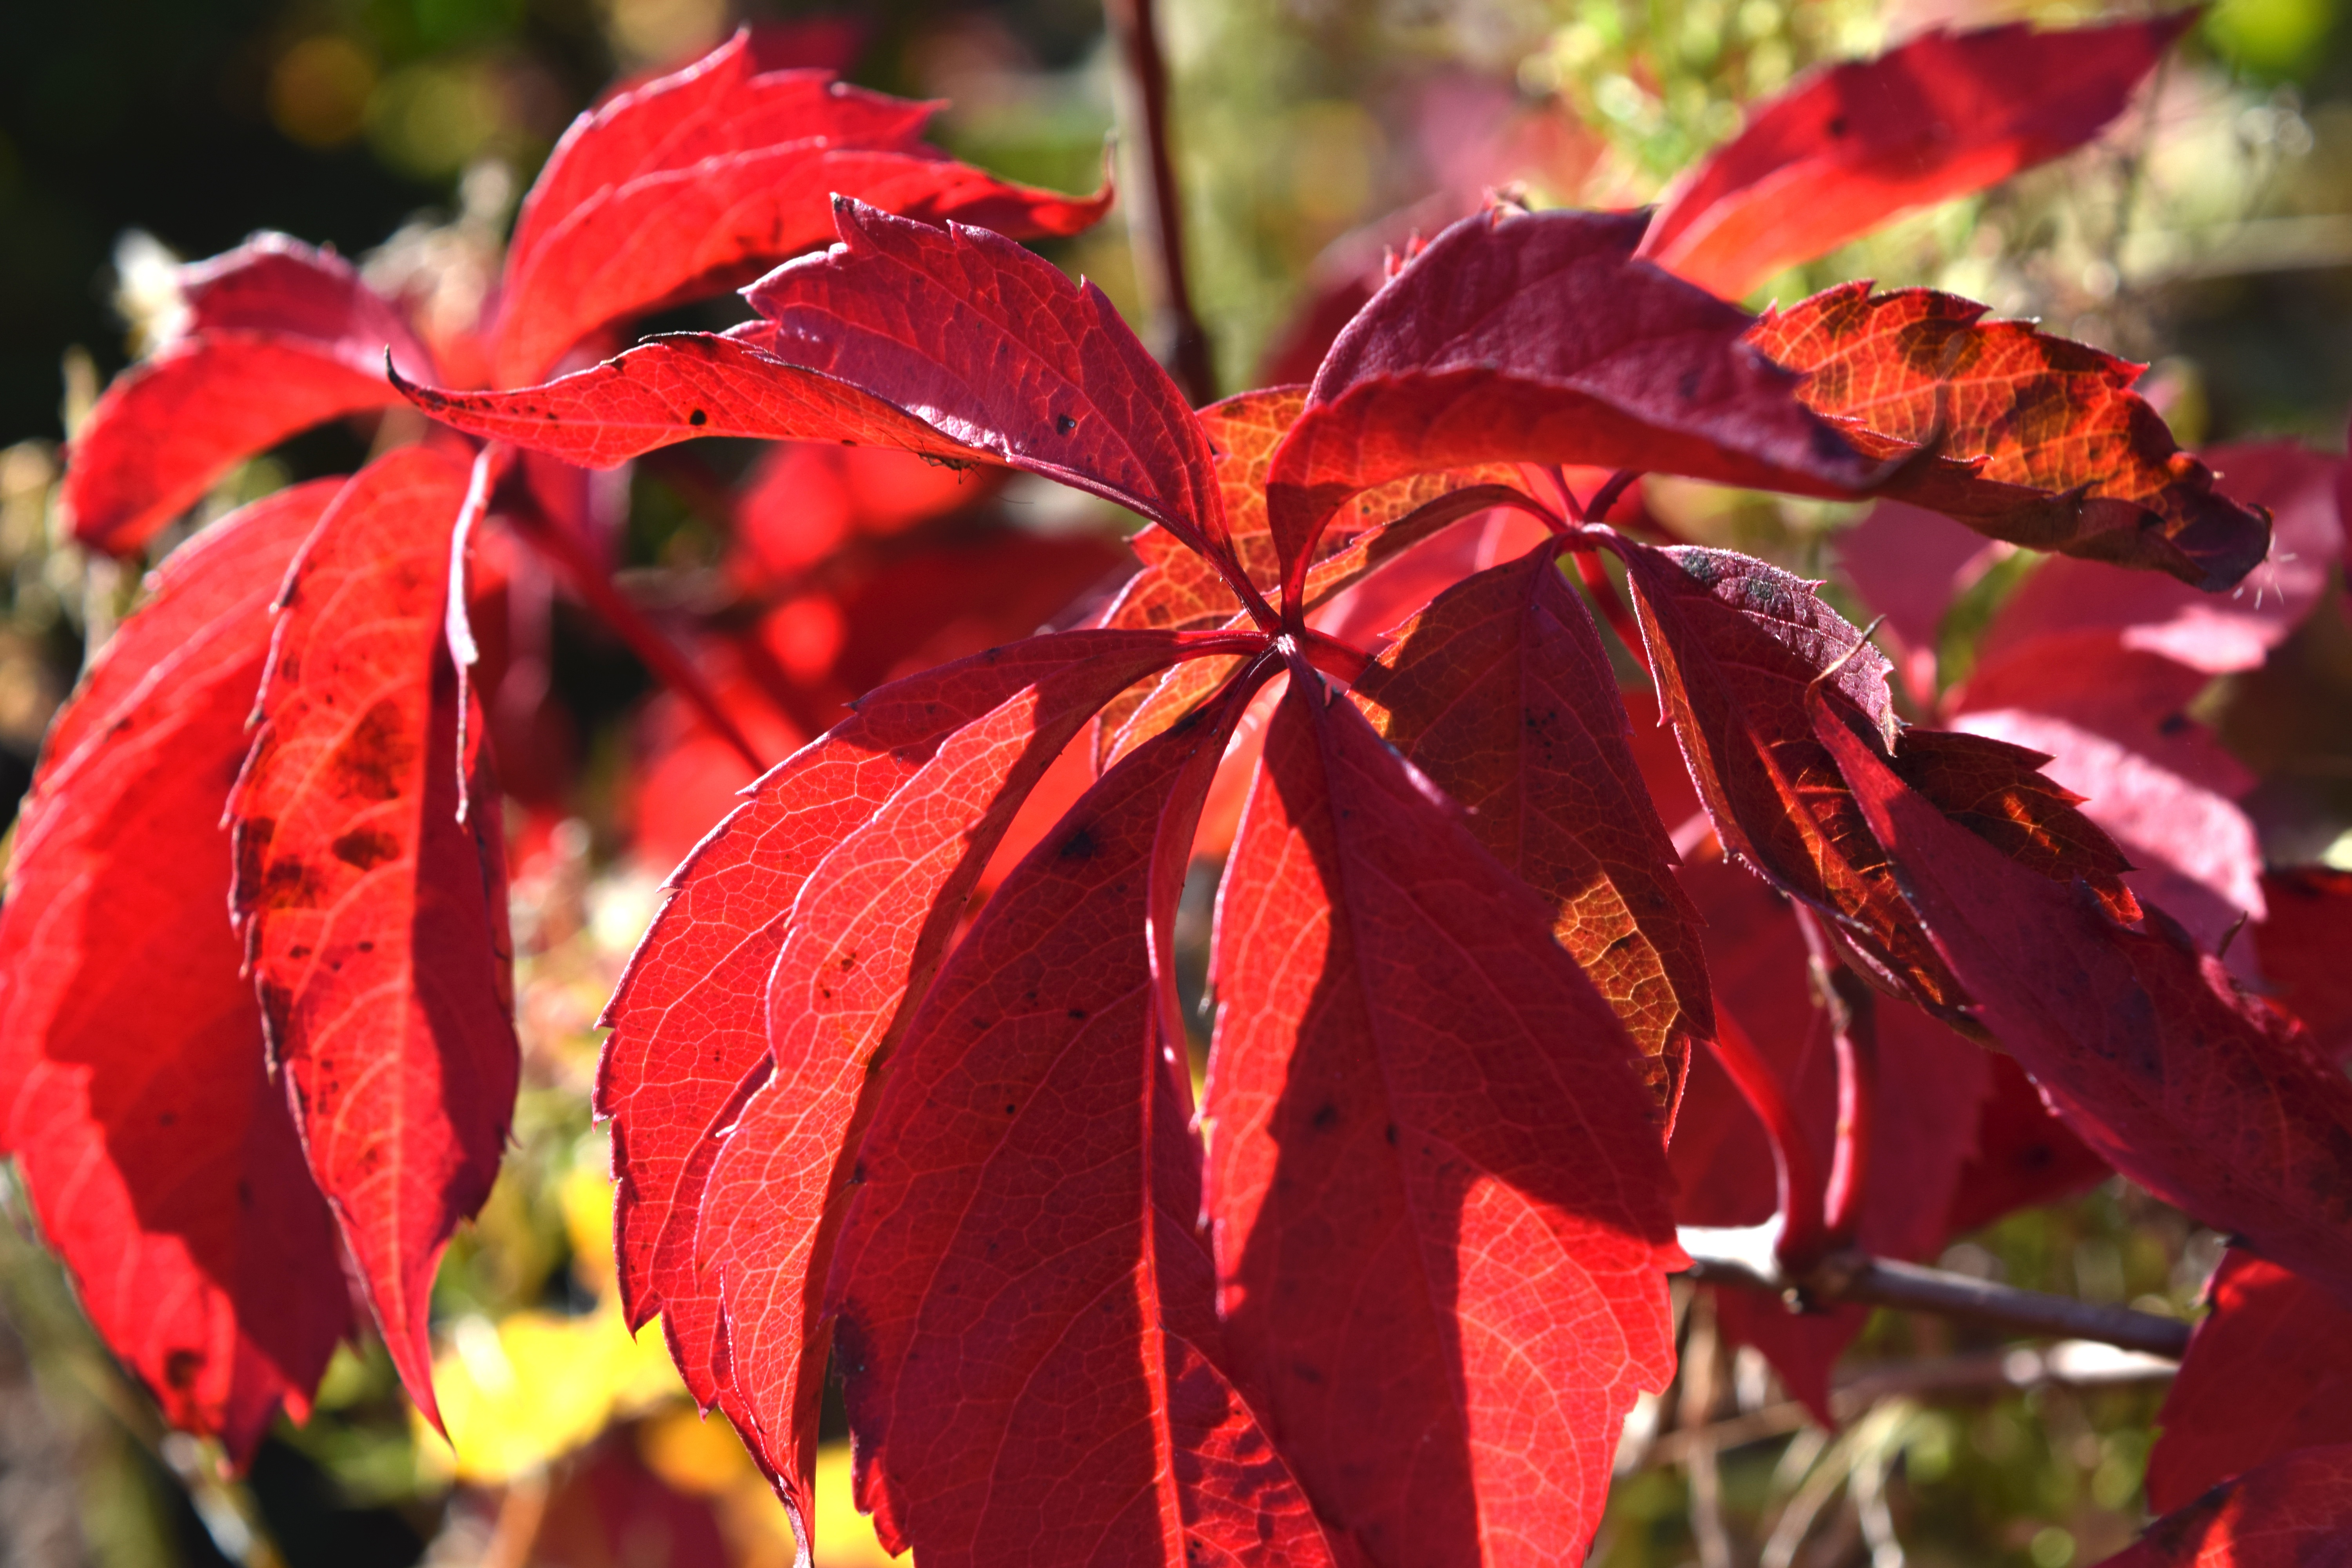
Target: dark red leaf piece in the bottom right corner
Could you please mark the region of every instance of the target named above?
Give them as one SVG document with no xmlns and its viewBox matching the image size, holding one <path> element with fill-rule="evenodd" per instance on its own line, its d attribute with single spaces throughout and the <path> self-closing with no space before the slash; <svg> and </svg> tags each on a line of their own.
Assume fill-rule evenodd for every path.
<svg viewBox="0 0 2352 1568">
<path fill-rule="evenodd" d="M 2345 1568 L 2352 1443 L 2298 1448 L 2166 1514 L 2100 1568 Z"/>
</svg>

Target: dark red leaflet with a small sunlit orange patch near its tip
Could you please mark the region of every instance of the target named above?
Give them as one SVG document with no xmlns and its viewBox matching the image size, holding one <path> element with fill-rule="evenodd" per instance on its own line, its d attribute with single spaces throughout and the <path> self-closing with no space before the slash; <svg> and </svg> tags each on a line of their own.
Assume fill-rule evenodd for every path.
<svg viewBox="0 0 2352 1568">
<path fill-rule="evenodd" d="M 1555 550 L 1449 588 L 1355 691 L 1381 736 L 1468 809 L 1479 844 L 1550 900 L 1552 936 L 1649 1058 L 1670 1121 L 1691 1041 L 1715 1034 L 1698 910 Z"/>
</svg>

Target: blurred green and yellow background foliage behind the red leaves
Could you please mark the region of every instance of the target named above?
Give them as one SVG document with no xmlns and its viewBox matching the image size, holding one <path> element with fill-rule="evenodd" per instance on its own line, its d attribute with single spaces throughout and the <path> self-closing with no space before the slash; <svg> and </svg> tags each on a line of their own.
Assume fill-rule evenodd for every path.
<svg viewBox="0 0 2352 1568">
<path fill-rule="evenodd" d="M 1486 186 L 1517 183 L 1538 205 L 1646 202 L 1738 129 L 1745 101 L 1813 61 L 1931 24 L 2096 12 L 2049 0 L 1162 0 L 1197 306 L 1221 376 L 1249 383 L 1308 289 L 1414 228 L 1435 230 Z M 2152 393 L 2190 440 L 2291 430 L 2336 444 L 2352 404 L 2352 28 L 2338 12 L 2338 0 L 2218 0 L 2152 113 L 2063 167 L 1907 216 L 1762 294 L 1851 275 L 1933 282 L 2161 357 Z M 82 649 L 136 592 L 132 574 L 52 545 L 52 487 L 56 437 L 139 348 L 158 268 L 270 226 L 362 256 L 383 247 L 369 259 L 376 277 L 440 287 L 470 268 L 480 287 L 515 193 L 564 122 L 616 73 L 687 56 L 746 14 L 795 12 L 729 0 L 12 12 L 0 52 L 0 442 L 14 442 L 0 444 L 0 797 L 21 792 Z M 868 49 L 854 75 L 953 99 L 938 136 L 955 153 L 1073 190 L 1098 179 L 1120 92 L 1096 5 L 887 0 L 858 19 Z M 122 242 L 129 230 L 153 240 Z M 1054 254 L 1134 313 L 1117 221 Z M 289 442 L 233 475 L 188 527 L 348 468 L 367 440 L 329 428 Z M 1851 517 L 1691 484 L 1649 491 L 1679 531 L 1811 576 Z M 647 505 L 663 494 L 637 484 L 630 564 L 706 567 L 696 524 Z M 1976 630 L 2030 569 L 2011 557 L 1955 607 L 1947 672 L 1966 668 Z M 593 1020 L 656 889 L 614 853 L 604 804 L 626 750 L 612 717 L 642 675 L 616 672 L 593 637 L 576 642 L 557 682 L 602 703 L 586 748 L 588 818 L 513 818 L 524 1088 L 499 1187 L 435 1295 L 456 1446 L 416 1425 L 367 1345 L 336 1359 L 308 1427 L 282 1425 L 254 1472 L 228 1481 L 216 1455 L 155 1427 L 54 1265 L 24 1229 L 0 1229 L 12 1563 L 586 1568 L 600 1559 L 579 1530 L 597 1519 L 607 1533 L 649 1530 L 633 1537 L 644 1544 L 633 1563 L 699 1563 L 694 1542 L 708 1552 L 710 1540 L 729 1561 L 790 1563 L 764 1481 L 724 1422 L 691 1410 L 659 1326 L 633 1340 L 614 1298 L 604 1145 L 586 1110 Z M 2352 731 L 2310 722 L 2352 715 L 2340 609 L 2199 712 L 2258 771 L 2288 780 L 2263 785 L 2274 809 L 2256 806 L 2277 856 L 2305 858 L 2352 820 Z M 2004 1220 L 1945 1267 L 2187 1314 L 2216 1255 L 2211 1234 L 2110 1182 Z M 1693 1528 L 1771 1568 L 1863 1556 L 2070 1568 L 2143 1519 L 2161 1385 L 1929 1387 L 1922 1368 L 1985 1366 L 1999 1342 L 1879 1314 L 1846 1375 L 1919 1387 L 1828 1434 L 1802 1425 L 1752 1352 L 1719 1347 L 1703 1305 L 1682 1302 L 1705 1396 L 1686 1378 L 1649 1410 L 1653 1436 L 1710 1420 L 1726 1432 L 1745 1420 L 1752 1436 L 1705 1462 L 1684 1446 L 1672 1465 L 1630 1443 L 1602 1537 L 1611 1568 L 1696 1561 Z M 828 1436 L 840 1436 L 837 1410 Z M 816 1490 L 818 1563 L 884 1561 L 854 1516 L 837 1441 Z"/>
</svg>

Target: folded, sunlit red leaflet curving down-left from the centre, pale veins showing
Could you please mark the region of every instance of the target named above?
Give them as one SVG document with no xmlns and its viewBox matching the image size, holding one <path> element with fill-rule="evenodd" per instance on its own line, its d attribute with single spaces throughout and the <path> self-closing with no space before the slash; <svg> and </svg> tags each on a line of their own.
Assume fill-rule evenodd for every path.
<svg viewBox="0 0 2352 1568">
<path fill-rule="evenodd" d="M 607 1009 L 597 1112 L 630 1321 L 663 1314 L 689 1389 L 727 1408 L 802 1519 L 818 1298 L 868 1067 L 1054 755 L 1183 654 L 1171 632 L 1065 632 L 866 696 L 677 870 Z M 802 1009 L 771 1025 L 779 976 Z"/>
</svg>

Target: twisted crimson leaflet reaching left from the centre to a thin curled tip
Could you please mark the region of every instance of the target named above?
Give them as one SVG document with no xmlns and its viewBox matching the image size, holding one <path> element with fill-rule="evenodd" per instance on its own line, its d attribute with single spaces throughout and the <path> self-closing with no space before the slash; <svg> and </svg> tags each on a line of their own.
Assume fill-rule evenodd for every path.
<svg viewBox="0 0 2352 1568">
<path fill-rule="evenodd" d="M 513 393 L 402 393 L 459 430 L 588 468 L 696 435 L 1002 463 L 1225 552 L 1200 421 L 1101 289 L 981 228 L 851 197 L 833 221 L 842 242 L 746 289 L 762 320 L 724 336 L 652 339 Z"/>
</svg>

